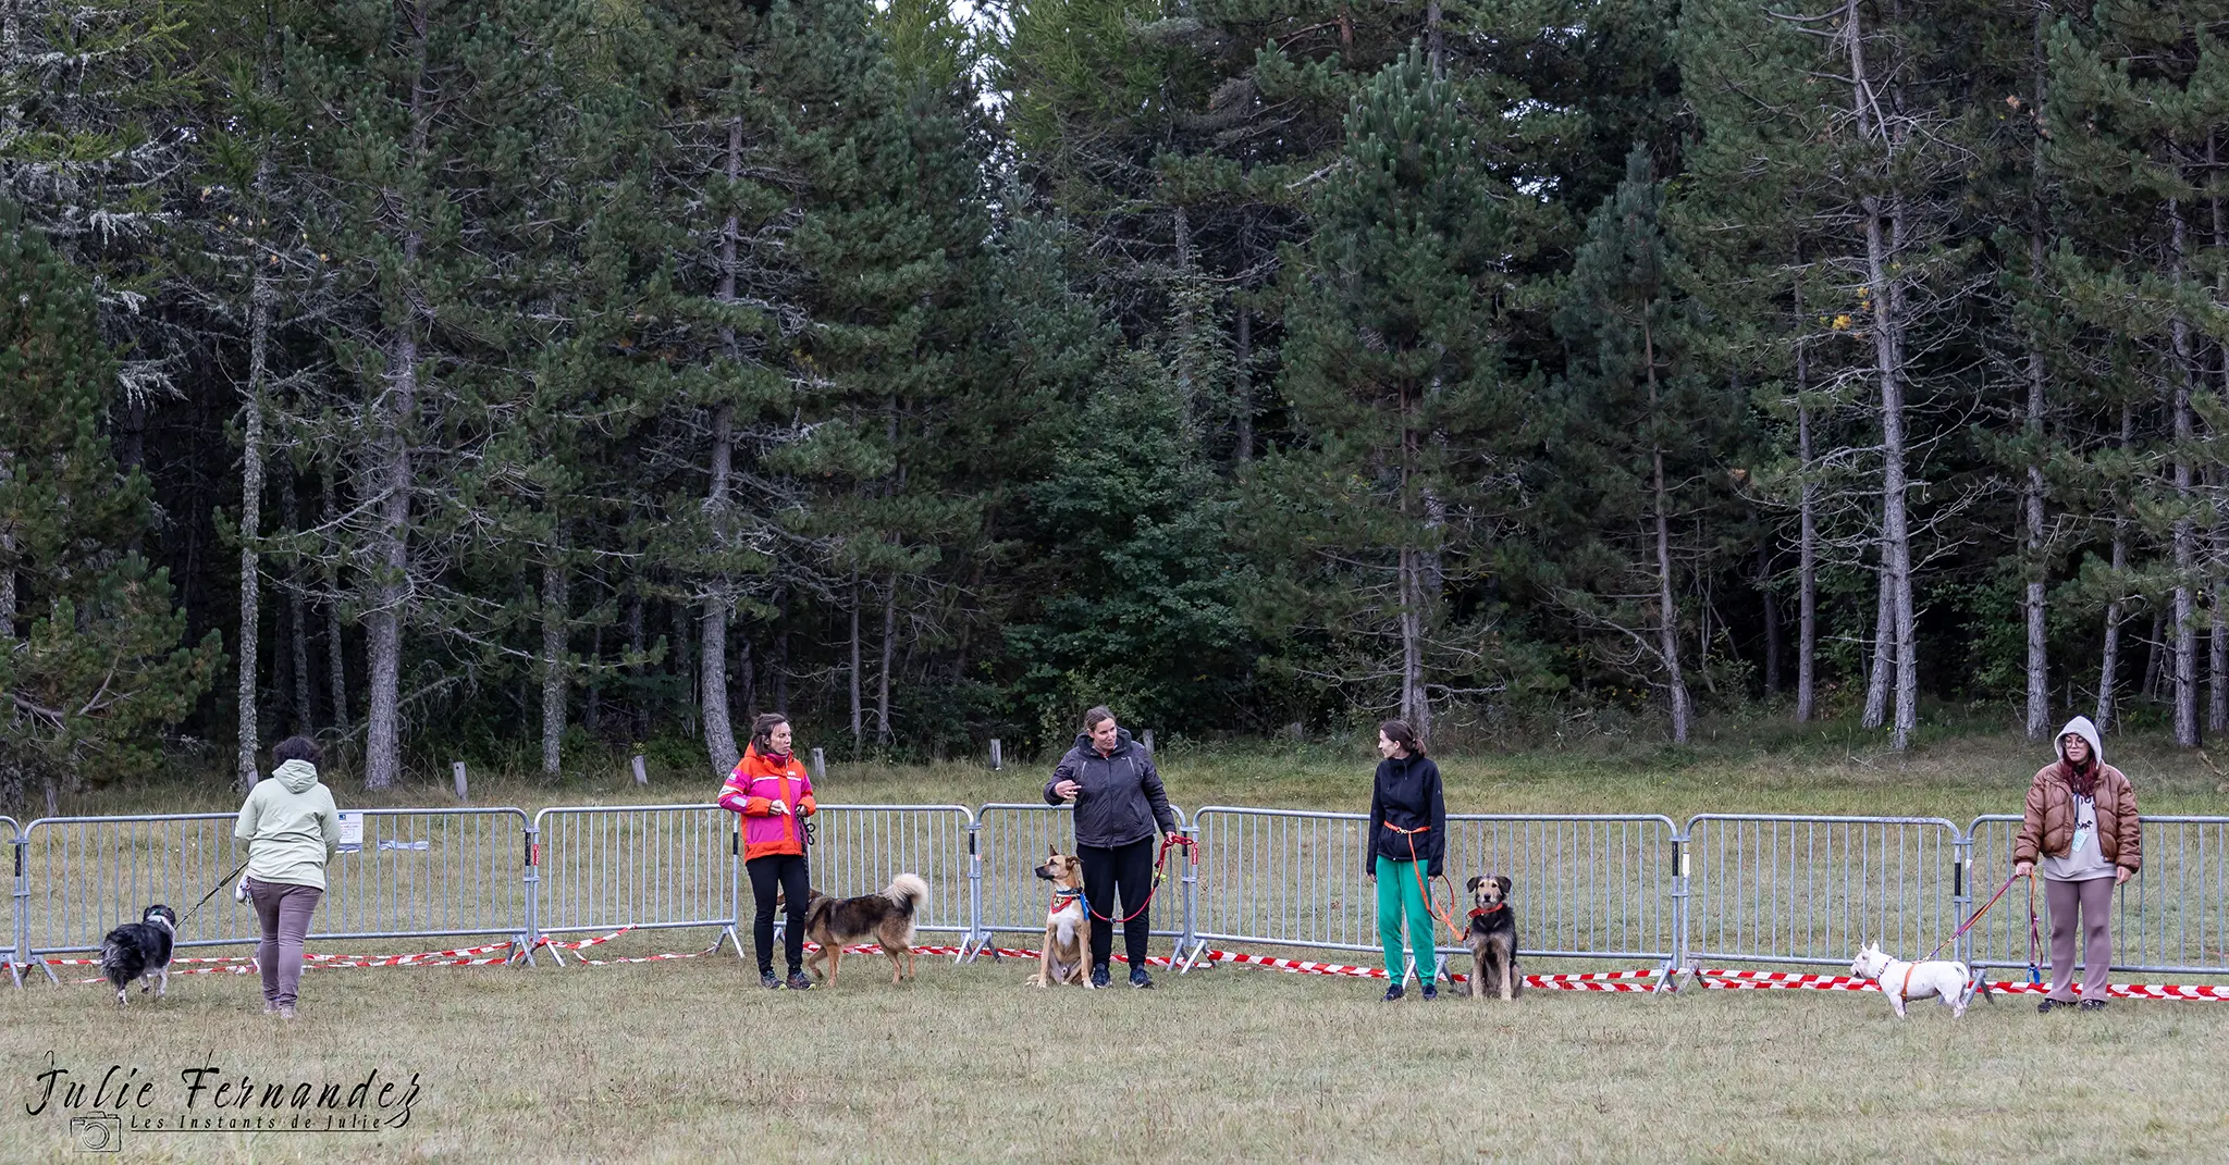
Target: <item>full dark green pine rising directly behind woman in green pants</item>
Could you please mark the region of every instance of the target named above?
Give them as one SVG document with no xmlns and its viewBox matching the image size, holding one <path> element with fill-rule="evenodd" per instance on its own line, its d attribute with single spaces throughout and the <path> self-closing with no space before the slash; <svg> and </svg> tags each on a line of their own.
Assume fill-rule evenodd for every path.
<svg viewBox="0 0 2229 1165">
<path fill-rule="evenodd" d="M 1473 617 L 1507 526 L 1518 430 L 1496 359 L 1507 189 L 1478 167 L 1453 87 L 1413 47 L 1355 98 L 1315 238 L 1288 254 L 1284 390 L 1304 443 L 1259 463 L 1253 537 L 1286 584 L 1271 628 L 1320 628 L 1320 668 L 1429 735 L 1431 702 L 1485 686 L 1498 659 Z M 1277 521 L 1268 515 L 1279 512 Z M 1382 704 L 1380 704 L 1382 706 Z"/>
</svg>

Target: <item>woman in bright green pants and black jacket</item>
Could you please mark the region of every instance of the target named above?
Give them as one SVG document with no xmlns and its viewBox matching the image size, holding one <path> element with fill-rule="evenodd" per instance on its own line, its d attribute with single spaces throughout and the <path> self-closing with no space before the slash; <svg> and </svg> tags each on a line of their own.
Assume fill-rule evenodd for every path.
<svg viewBox="0 0 2229 1165">
<path fill-rule="evenodd" d="M 1386 1002 L 1402 998 L 1406 969 L 1400 958 L 1402 918 L 1409 920 L 1409 949 L 1415 956 L 1415 978 L 1424 998 L 1440 998 L 1435 980 L 1440 960 L 1433 953 L 1431 904 L 1424 882 L 1438 878 L 1447 862 L 1447 800 L 1440 795 L 1440 766 L 1424 755 L 1424 744 L 1402 719 L 1378 726 L 1378 780 L 1371 791 L 1371 844 L 1362 853 L 1362 873 L 1378 880 L 1378 938 L 1386 944 Z"/>
</svg>

